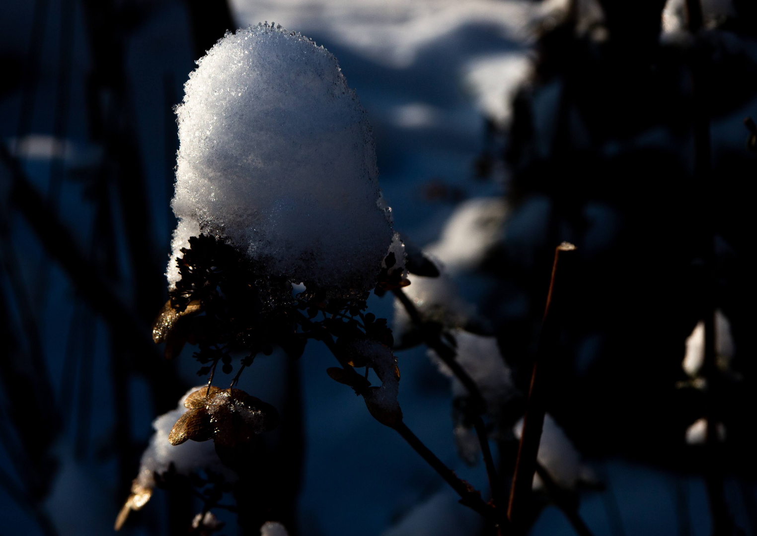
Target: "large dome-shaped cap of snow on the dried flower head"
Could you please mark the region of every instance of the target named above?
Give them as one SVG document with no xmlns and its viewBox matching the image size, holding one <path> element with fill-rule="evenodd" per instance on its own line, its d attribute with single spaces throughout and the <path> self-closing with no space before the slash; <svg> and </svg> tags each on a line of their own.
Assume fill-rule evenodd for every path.
<svg viewBox="0 0 757 536">
<path fill-rule="evenodd" d="M 198 61 L 176 114 L 171 286 L 173 259 L 200 230 L 271 274 L 372 287 L 391 222 L 366 112 L 329 51 L 268 25 L 227 33 Z"/>
</svg>

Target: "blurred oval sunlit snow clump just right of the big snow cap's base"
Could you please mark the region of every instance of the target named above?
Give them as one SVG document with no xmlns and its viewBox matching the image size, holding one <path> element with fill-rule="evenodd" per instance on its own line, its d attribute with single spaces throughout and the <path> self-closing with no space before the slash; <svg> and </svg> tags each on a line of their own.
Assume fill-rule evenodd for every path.
<svg viewBox="0 0 757 536">
<path fill-rule="evenodd" d="M 501 197 L 480 197 L 461 203 L 447 220 L 441 239 L 424 248 L 450 273 L 476 268 L 503 238 L 509 214 Z"/>
</svg>

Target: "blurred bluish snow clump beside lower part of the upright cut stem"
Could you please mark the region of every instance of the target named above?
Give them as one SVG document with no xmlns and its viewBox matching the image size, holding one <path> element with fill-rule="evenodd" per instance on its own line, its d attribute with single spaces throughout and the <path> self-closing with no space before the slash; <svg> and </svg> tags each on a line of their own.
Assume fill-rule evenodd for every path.
<svg viewBox="0 0 757 536">
<path fill-rule="evenodd" d="M 520 439 L 522 431 L 521 418 L 513 426 L 512 432 Z M 550 414 L 544 416 L 544 429 L 541 432 L 537 460 L 563 488 L 572 489 L 583 482 L 592 482 L 595 479 L 591 469 L 581 463 L 581 454 Z M 539 476 L 534 475 L 534 488 L 542 486 Z"/>
</svg>

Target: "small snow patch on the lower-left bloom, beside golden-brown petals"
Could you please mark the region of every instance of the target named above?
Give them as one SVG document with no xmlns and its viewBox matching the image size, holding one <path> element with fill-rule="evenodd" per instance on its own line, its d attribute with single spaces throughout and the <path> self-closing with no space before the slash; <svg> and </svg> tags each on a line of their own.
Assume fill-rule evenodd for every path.
<svg viewBox="0 0 757 536">
<path fill-rule="evenodd" d="M 142 454 L 139 474 L 135 481 L 142 488 L 153 488 L 155 484 L 154 473 L 166 472 L 172 463 L 176 472 L 182 475 L 188 475 L 198 469 L 210 469 L 223 475 L 228 482 L 237 479 L 236 473 L 221 463 L 212 441 L 201 443 L 188 441 L 176 446 L 171 445 L 168 441 L 168 435 L 173 425 L 179 420 L 179 417 L 188 411 L 184 407 L 184 401 L 198 389 L 204 389 L 204 386 L 189 389 L 179 400 L 175 410 L 160 415 L 153 421 L 152 427 L 155 433 L 150 439 L 150 445 Z"/>
</svg>

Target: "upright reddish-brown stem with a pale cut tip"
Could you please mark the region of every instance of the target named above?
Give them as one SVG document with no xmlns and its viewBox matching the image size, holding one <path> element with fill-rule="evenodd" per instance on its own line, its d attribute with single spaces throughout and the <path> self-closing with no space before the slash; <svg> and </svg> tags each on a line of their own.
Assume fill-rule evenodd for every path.
<svg viewBox="0 0 757 536">
<path fill-rule="evenodd" d="M 575 246 L 563 242 L 555 248 L 555 260 L 552 265 L 552 277 L 550 290 L 547 293 L 547 305 L 544 307 L 544 319 L 542 321 L 539 346 L 534 359 L 534 370 L 531 373 L 531 386 L 528 390 L 528 403 L 523 418 L 523 431 L 518 447 L 516 470 L 512 476 L 510 499 L 507 505 L 507 517 L 516 525 L 525 518 L 523 512 L 531 497 L 531 483 L 534 480 L 534 472 L 537 463 L 536 456 L 539 451 L 541 430 L 544 427 L 544 414 L 547 411 L 546 393 L 544 389 L 544 371 L 540 373 L 553 355 L 559 336 L 559 322 L 556 321 L 556 310 L 562 304 L 562 284 L 556 284 L 562 280 L 562 271 L 559 269 L 564 263 L 565 256 L 575 255 Z"/>
</svg>

